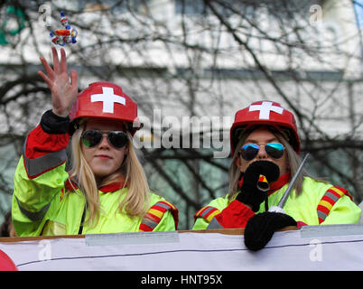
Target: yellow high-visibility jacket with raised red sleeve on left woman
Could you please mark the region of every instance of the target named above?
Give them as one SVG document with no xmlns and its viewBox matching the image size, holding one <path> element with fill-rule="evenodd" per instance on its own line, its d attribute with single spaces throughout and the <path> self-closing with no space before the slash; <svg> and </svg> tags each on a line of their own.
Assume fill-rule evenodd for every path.
<svg viewBox="0 0 363 289">
<path fill-rule="evenodd" d="M 12 219 L 18 236 L 74 235 L 175 230 L 178 210 L 150 192 L 144 217 L 119 210 L 127 188 L 111 183 L 99 189 L 98 223 L 87 222 L 86 197 L 65 172 L 67 134 L 48 134 L 37 126 L 28 135 L 14 175 Z M 86 220 L 86 222 L 84 222 Z"/>
</svg>

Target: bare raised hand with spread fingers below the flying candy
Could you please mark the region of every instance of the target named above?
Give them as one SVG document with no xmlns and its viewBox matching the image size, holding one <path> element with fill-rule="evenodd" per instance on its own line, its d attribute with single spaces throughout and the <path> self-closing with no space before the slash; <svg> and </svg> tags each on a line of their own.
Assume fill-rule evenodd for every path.
<svg viewBox="0 0 363 289">
<path fill-rule="evenodd" d="M 45 75 L 42 71 L 38 74 L 44 79 L 51 89 L 52 111 L 59 117 L 67 117 L 71 107 L 77 100 L 78 95 L 78 75 L 76 70 L 70 70 L 68 75 L 66 52 L 61 48 L 61 64 L 58 59 L 58 52 L 55 47 L 51 48 L 53 56 L 53 68 L 41 57 L 42 65 L 47 71 Z"/>
</svg>

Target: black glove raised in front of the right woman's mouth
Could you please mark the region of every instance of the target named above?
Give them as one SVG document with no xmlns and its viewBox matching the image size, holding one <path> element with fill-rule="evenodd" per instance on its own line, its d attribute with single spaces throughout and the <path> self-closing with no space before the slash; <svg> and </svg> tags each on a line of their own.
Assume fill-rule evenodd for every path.
<svg viewBox="0 0 363 289">
<path fill-rule="evenodd" d="M 250 206 L 253 211 L 259 210 L 267 197 L 267 192 L 258 190 L 256 186 L 260 174 L 265 175 L 268 182 L 275 182 L 280 176 L 280 170 L 277 164 L 268 161 L 256 161 L 247 167 L 236 200 Z"/>
</svg>

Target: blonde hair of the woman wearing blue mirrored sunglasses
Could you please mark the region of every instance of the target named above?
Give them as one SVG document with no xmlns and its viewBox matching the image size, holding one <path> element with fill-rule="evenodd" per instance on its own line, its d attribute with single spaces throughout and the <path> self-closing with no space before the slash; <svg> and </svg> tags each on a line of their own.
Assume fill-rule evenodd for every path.
<svg viewBox="0 0 363 289">
<path fill-rule="evenodd" d="M 285 152 L 287 154 L 287 160 L 288 163 L 288 169 L 290 170 L 291 175 L 293 176 L 301 163 L 301 159 L 298 154 L 293 150 L 293 146 L 287 141 L 286 135 L 283 132 L 278 131 L 277 129 L 265 126 L 271 133 L 273 133 L 278 141 L 281 144 L 284 144 Z M 229 190 L 228 190 L 228 200 L 232 200 L 233 196 L 236 194 L 238 189 L 238 181 L 241 178 L 241 172 L 236 164 L 237 157 L 239 157 L 239 148 L 245 144 L 247 136 L 250 135 L 254 130 L 256 129 L 256 126 L 250 127 L 248 129 L 245 129 L 240 135 L 239 140 L 236 145 L 235 154 L 233 154 L 232 163 L 229 167 Z M 302 172 L 297 177 L 296 182 L 293 184 L 293 189 L 295 189 L 296 196 L 299 196 L 302 193 L 302 182 L 304 176 L 308 176 L 308 173 L 302 169 Z"/>
</svg>

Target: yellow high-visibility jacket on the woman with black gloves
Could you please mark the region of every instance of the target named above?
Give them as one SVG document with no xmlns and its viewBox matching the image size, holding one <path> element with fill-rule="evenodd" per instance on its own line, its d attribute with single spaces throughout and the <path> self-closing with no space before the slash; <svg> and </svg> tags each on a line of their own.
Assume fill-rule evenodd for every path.
<svg viewBox="0 0 363 289">
<path fill-rule="evenodd" d="M 277 206 L 283 197 L 288 183 L 268 196 L 268 205 Z M 244 228 L 247 220 L 255 213 L 243 203 L 228 196 L 210 201 L 195 214 L 193 229 L 205 228 Z M 256 213 L 265 211 L 265 201 Z M 284 211 L 298 224 L 329 225 L 358 223 L 361 210 L 351 200 L 349 192 L 343 188 L 305 177 L 302 193 L 296 196 L 293 190 L 285 202 Z"/>
</svg>

